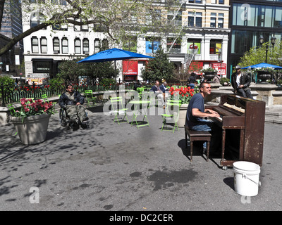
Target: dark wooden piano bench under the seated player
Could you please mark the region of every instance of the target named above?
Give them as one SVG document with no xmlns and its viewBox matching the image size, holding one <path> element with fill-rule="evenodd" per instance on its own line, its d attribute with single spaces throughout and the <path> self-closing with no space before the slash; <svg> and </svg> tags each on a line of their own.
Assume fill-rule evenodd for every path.
<svg viewBox="0 0 282 225">
<path fill-rule="evenodd" d="M 192 129 L 189 129 L 188 126 L 185 124 L 186 148 L 188 148 L 187 135 L 190 139 L 190 161 L 192 162 L 194 141 L 207 141 L 207 161 L 209 161 L 209 143 L 211 141 L 212 134 L 210 134 L 209 131 L 194 131 Z"/>
</svg>

